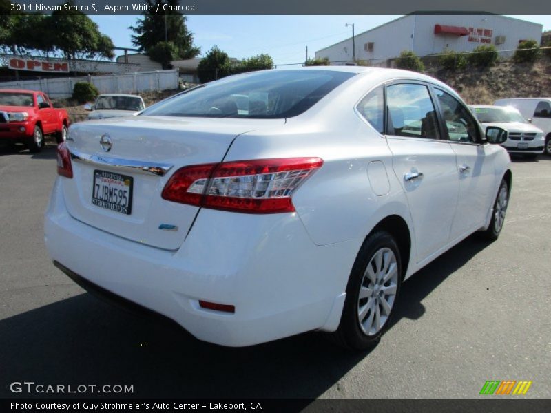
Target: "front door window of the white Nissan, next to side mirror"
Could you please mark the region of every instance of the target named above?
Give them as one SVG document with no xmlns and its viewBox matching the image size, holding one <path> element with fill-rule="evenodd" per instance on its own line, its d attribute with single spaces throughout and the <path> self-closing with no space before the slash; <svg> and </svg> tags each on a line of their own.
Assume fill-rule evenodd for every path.
<svg viewBox="0 0 551 413">
<path fill-rule="evenodd" d="M 454 142 L 479 142 L 479 127 L 468 109 L 456 98 L 440 89 L 436 97 L 448 129 L 448 136 Z"/>
</svg>

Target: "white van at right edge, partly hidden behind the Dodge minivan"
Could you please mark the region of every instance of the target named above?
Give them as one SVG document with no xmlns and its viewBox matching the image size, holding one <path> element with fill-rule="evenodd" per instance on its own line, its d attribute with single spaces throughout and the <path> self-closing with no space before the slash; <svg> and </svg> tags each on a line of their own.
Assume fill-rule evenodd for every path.
<svg viewBox="0 0 551 413">
<path fill-rule="evenodd" d="M 551 98 L 499 99 L 497 106 L 512 106 L 521 112 L 528 122 L 539 127 L 545 136 L 545 154 L 551 156 Z"/>
</svg>

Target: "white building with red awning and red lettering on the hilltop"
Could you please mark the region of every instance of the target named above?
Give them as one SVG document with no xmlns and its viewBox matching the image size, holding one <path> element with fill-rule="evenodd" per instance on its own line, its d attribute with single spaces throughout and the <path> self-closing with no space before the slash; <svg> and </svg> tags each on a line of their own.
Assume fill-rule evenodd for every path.
<svg viewBox="0 0 551 413">
<path fill-rule="evenodd" d="M 497 50 L 515 50 L 520 41 L 541 41 L 543 26 L 530 21 L 493 14 L 430 15 L 408 14 L 354 36 L 356 61 L 386 65 L 386 59 L 413 50 L 417 56 L 444 50 L 470 52 L 484 44 Z M 316 59 L 329 58 L 335 65 L 353 61 L 352 38 L 315 52 Z"/>
</svg>

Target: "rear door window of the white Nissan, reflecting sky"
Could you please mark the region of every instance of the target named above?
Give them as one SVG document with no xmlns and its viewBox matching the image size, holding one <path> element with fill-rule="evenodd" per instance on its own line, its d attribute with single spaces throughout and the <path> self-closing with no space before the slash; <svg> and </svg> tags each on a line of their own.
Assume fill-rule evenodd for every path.
<svg viewBox="0 0 551 413">
<path fill-rule="evenodd" d="M 386 116 L 388 135 L 440 139 L 435 106 L 425 85 L 386 87 Z"/>
</svg>

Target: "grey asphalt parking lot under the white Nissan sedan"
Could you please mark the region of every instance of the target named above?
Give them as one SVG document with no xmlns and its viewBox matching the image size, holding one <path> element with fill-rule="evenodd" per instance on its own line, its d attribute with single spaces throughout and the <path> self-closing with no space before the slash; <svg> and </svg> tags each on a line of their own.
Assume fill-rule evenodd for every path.
<svg viewBox="0 0 551 413">
<path fill-rule="evenodd" d="M 134 385 L 127 397 L 472 398 L 487 380 L 551 397 L 551 158 L 512 171 L 499 240 L 470 237 L 408 280 L 371 352 L 314 332 L 222 348 L 112 308 L 56 269 L 43 245 L 55 147 L 0 147 L 0 397 L 34 381 Z"/>
</svg>

